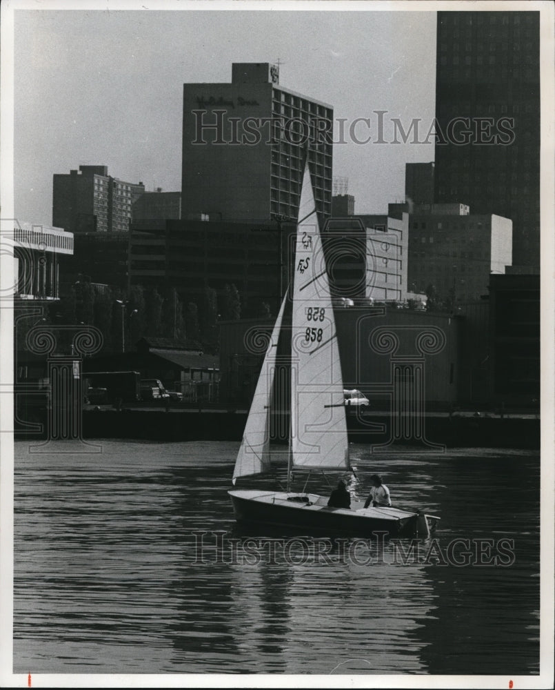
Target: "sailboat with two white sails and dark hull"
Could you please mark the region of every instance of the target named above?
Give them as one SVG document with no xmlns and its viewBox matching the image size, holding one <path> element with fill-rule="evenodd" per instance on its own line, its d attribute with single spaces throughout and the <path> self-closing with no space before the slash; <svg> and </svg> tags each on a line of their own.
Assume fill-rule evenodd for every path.
<svg viewBox="0 0 555 690">
<path fill-rule="evenodd" d="M 310 473 L 352 472 L 332 297 L 307 166 L 295 245 L 292 290 L 272 330 L 233 473 L 235 486 L 239 477 L 270 472 L 272 386 L 285 307 L 292 299 L 287 486 L 280 492 L 229 491 L 236 520 L 330 535 L 429 535 L 432 517 L 423 513 L 381 506 L 365 509 L 362 502 L 352 502 L 350 509 L 332 508 L 327 496 L 291 491 L 293 473 L 307 473 L 307 486 Z"/>
</svg>

